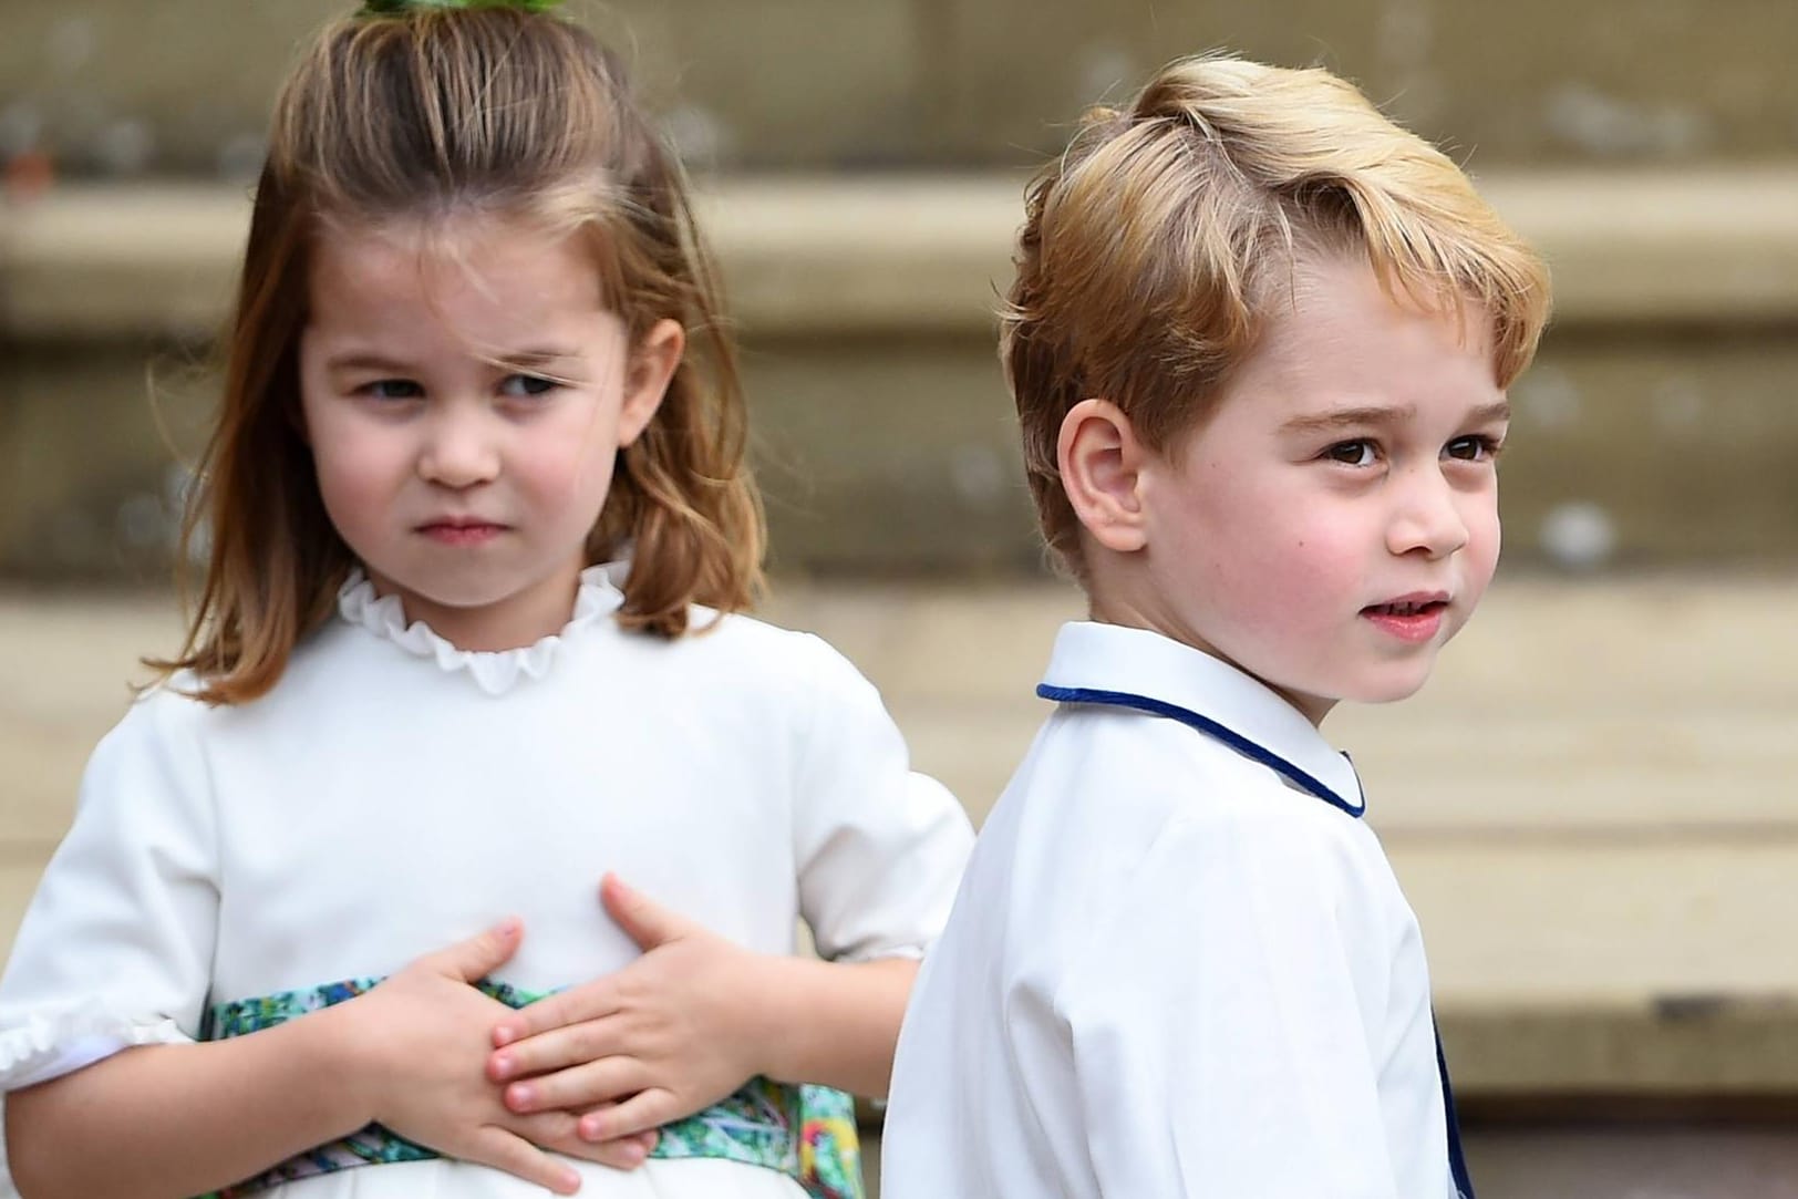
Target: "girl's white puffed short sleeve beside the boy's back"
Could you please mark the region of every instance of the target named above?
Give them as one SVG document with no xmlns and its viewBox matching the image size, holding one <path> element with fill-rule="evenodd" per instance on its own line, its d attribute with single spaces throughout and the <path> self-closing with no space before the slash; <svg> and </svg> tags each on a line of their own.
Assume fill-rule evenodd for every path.
<svg viewBox="0 0 1798 1199">
<path fill-rule="evenodd" d="M 800 915 L 829 960 L 921 958 L 973 847 L 962 805 L 912 769 L 879 692 L 809 638 L 809 726 L 795 796 Z"/>
</svg>

